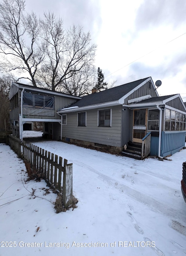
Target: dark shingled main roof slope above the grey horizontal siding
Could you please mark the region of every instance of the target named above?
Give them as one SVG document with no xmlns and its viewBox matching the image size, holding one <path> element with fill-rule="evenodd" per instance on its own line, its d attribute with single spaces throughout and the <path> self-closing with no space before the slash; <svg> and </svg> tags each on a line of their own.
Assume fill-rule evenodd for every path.
<svg viewBox="0 0 186 256">
<path fill-rule="evenodd" d="M 85 107 L 85 106 L 92 106 L 97 104 L 104 104 L 107 102 L 115 102 L 131 90 L 136 88 L 138 85 L 143 83 L 147 78 L 143 78 L 134 82 L 126 83 L 117 87 L 113 87 L 99 93 L 92 93 L 86 96 L 83 96 L 81 100 L 69 105 L 68 107 Z M 66 108 L 68 108 L 66 107 Z"/>
</svg>

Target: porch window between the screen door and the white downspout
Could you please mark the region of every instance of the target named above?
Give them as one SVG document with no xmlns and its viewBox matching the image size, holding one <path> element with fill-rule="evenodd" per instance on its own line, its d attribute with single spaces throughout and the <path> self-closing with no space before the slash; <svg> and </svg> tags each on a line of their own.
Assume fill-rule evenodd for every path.
<svg viewBox="0 0 186 256">
<path fill-rule="evenodd" d="M 148 114 L 148 130 L 159 131 L 160 111 L 158 109 L 149 109 Z"/>
</svg>

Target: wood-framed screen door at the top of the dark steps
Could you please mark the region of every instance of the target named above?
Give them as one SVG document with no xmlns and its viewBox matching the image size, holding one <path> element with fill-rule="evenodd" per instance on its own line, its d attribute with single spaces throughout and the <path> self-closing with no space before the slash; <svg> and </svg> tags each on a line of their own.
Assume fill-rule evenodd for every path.
<svg viewBox="0 0 186 256">
<path fill-rule="evenodd" d="M 142 143 L 146 134 L 146 109 L 135 109 L 133 113 L 133 142 Z"/>
</svg>

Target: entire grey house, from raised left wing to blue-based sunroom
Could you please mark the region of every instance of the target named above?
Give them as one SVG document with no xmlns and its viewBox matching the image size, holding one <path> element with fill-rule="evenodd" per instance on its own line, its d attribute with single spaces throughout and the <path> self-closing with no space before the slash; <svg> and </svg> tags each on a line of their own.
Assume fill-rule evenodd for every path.
<svg viewBox="0 0 186 256">
<path fill-rule="evenodd" d="M 12 134 L 44 123 L 47 138 L 78 142 L 136 159 L 166 157 L 185 146 L 186 106 L 179 94 L 159 96 L 151 77 L 76 97 L 12 82 Z"/>
</svg>

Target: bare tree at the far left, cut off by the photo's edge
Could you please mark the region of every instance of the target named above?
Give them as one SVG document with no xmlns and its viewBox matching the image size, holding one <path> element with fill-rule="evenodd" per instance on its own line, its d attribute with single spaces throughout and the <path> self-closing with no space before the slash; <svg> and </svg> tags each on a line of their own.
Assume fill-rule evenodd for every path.
<svg viewBox="0 0 186 256">
<path fill-rule="evenodd" d="M 33 12 L 25 15 L 24 9 L 24 0 L 0 3 L 1 71 L 25 73 L 26 77 L 19 79 L 27 78 L 36 87 L 35 74 L 44 59 L 44 47 L 38 43 L 40 24 L 36 15 Z"/>
</svg>

